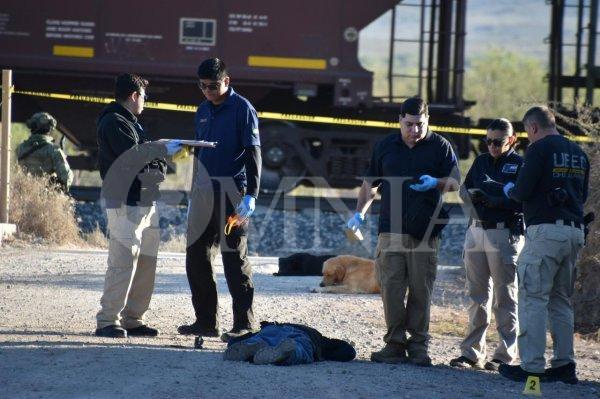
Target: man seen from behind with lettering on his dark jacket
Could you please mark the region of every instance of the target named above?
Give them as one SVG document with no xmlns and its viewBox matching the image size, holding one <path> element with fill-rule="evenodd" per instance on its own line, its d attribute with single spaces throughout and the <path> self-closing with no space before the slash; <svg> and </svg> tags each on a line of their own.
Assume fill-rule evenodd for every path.
<svg viewBox="0 0 600 399">
<path fill-rule="evenodd" d="M 530 108 L 523 125 L 531 144 L 516 183 L 504 186 L 507 197 L 522 201 L 527 225 L 517 261 L 521 364 L 502 365 L 499 371 L 514 381 L 537 376 L 540 381 L 576 384 L 571 296 L 584 245 L 590 164 L 583 150 L 558 132 L 547 107 Z M 546 326 L 554 351 L 548 369 Z"/>
</svg>

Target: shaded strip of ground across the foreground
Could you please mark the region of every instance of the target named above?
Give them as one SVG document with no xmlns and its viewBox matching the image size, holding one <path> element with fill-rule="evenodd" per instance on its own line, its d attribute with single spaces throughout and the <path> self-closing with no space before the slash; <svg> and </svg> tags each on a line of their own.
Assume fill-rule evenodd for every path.
<svg viewBox="0 0 600 399">
<path fill-rule="evenodd" d="M 0 344 L 1 397 L 517 397 L 523 384 L 446 366 L 321 362 L 276 367 L 226 362 L 221 351 L 98 342 Z M 542 384 L 544 397 L 594 397 L 600 386 Z"/>
</svg>

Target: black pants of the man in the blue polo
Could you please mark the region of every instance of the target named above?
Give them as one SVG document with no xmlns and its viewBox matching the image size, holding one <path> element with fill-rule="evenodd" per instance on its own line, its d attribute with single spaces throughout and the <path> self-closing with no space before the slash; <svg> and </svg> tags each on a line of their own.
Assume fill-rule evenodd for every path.
<svg viewBox="0 0 600 399">
<path fill-rule="evenodd" d="M 203 328 L 219 328 L 214 260 L 219 246 L 225 279 L 233 302 L 233 329 L 254 325 L 254 284 L 248 261 L 248 222 L 225 235 L 234 207 L 225 195 L 195 188 L 190 196 L 185 268 L 196 320 Z"/>
</svg>

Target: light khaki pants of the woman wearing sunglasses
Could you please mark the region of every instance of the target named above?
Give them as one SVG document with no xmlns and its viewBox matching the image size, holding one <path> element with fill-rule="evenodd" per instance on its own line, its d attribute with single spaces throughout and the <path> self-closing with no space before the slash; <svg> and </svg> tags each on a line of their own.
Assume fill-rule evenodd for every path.
<svg viewBox="0 0 600 399">
<path fill-rule="evenodd" d="M 486 359 L 486 332 L 491 310 L 496 318 L 499 342 L 493 359 L 511 363 L 517 357 L 517 256 L 522 237 L 504 229 L 471 226 L 465 235 L 464 262 L 469 306 L 469 329 L 460 345 L 462 356 Z"/>
</svg>

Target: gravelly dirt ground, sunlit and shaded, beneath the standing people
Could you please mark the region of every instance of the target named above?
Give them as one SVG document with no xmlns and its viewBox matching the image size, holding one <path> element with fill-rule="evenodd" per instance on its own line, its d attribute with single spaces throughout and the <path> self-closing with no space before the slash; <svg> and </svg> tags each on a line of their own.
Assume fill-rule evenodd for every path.
<svg viewBox="0 0 600 399">
<path fill-rule="evenodd" d="M 182 254 L 161 254 L 147 320 L 158 338 L 112 340 L 92 335 L 104 282 L 106 252 L 45 247 L 0 248 L 0 398 L 514 398 L 523 384 L 496 373 L 454 370 L 465 326 L 464 279 L 440 268 L 432 312 L 434 367 L 371 363 L 382 346 L 377 295 L 314 294 L 318 277 L 274 277 L 276 258 L 252 258 L 258 320 L 297 322 L 346 339 L 358 357 L 277 367 L 225 362 L 225 344 L 193 337 Z M 218 269 L 222 327 L 231 300 Z M 457 323 L 459 323 L 457 325 Z M 493 343 L 492 343 L 493 345 Z M 547 398 L 600 397 L 600 344 L 576 340 L 577 386 L 542 384 Z"/>
</svg>

